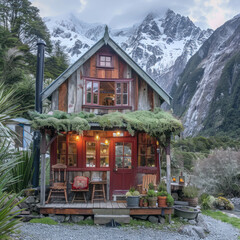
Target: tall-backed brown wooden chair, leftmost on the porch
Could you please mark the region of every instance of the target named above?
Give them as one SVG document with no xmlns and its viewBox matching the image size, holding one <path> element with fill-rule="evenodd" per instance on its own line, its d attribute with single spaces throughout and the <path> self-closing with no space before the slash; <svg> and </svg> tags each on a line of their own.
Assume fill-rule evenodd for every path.
<svg viewBox="0 0 240 240">
<path fill-rule="evenodd" d="M 52 166 L 52 174 L 50 179 L 51 187 L 46 203 L 49 203 L 51 197 L 63 197 L 65 198 L 66 203 L 68 203 L 66 170 L 67 166 L 65 164 L 58 163 Z M 52 196 L 52 193 L 63 193 L 64 196 Z"/>
</svg>

